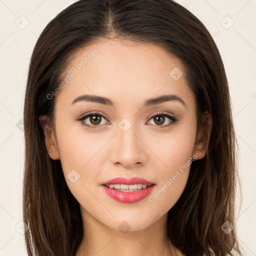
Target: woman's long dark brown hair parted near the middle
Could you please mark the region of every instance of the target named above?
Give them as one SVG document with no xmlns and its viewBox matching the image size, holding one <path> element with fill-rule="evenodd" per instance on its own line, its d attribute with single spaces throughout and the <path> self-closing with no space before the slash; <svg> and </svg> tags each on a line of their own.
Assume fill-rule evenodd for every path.
<svg viewBox="0 0 256 256">
<path fill-rule="evenodd" d="M 186 187 L 168 211 L 167 235 L 186 255 L 241 255 L 235 228 L 236 140 L 224 66 L 210 33 L 172 0 L 80 0 L 62 10 L 40 34 L 32 52 L 24 101 L 23 221 L 28 255 L 75 255 L 83 227 L 79 203 L 69 191 L 59 160 L 48 156 L 38 121 L 53 122 L 55 97 L 68 59 L 99 37 L 159 45 L 185 67 L 196 97 L 197 128 L 206 110 L 212 129 L 206 155 L 193 161 Z"/>
</svg>

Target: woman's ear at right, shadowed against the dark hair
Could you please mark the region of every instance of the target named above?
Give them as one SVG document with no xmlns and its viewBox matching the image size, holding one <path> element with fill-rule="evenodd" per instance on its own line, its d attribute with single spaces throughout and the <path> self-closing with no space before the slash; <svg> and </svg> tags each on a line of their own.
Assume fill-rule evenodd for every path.
<svg viewBox="0 0 256 256">
<path fill-rule="evenodd" d="M 193 155 L 196 154 L 196 159 L 201 159 L 205 156 L 209 144 L 210 134 L 212 128 L 212 118 L 209 111 L 205 111 L 202 115 L 201 127 L 197 131 L 195 144 L 193 148 Z M 197 153 L 196 153 L 197 152 Z M 200 152 L 200 154 L 198 154 Z"/>
</svg>

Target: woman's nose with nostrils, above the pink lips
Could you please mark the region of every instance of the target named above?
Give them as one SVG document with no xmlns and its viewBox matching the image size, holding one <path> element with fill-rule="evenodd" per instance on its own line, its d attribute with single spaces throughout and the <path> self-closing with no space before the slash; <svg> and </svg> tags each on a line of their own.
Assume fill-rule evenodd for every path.
<svg viewBox="0 0 256 256">
<path fill-rule="evenodd" d="M 147 148 L 142 142 L 144 137 L 138 129 L 135 129 L 135 125 L 131 125 L 126 131 L 116 128 L 117 134 L 113 138 L 110 155 L 111 162 L 115 165 L 123 165 L 125 168 L 143 165 L 147 158 Z"/>
</svg>

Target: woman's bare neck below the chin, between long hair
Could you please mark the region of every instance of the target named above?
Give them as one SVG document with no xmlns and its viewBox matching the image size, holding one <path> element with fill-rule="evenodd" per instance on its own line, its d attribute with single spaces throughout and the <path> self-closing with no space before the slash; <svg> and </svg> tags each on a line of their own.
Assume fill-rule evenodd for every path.
<svg viewBox="0 0 256 256">
<path fill-rule="evenodd" d="M 139 231 L 120 231 L 98 222 L 84 209 L 84 235 L 76 256 L 179 256 L 182 255 L 166 236 L 167 213 Z"/>
</svg>

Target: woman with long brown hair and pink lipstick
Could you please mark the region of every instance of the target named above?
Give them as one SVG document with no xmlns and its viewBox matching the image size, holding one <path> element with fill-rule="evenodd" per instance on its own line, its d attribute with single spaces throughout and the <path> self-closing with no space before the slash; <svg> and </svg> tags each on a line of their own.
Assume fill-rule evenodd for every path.
<svg viewBox="0 0 256 256">
<path fill-rule="evenodd" d="M 24 134 L 28 255 L 241 255 L 223 63 L 172 0 L 80 0 L 53 18 Z"/>
</svg>

